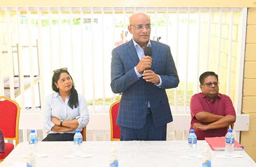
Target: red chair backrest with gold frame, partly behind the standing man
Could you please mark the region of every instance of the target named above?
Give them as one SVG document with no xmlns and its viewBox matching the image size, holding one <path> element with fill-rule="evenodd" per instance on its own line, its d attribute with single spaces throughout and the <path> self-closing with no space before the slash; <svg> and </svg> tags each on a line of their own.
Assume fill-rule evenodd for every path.
<svg viewBox="0 0 256 167">
<path fill-rule="evenodd" d="M 111 141 L 120 141 L 120 126 L 116 125 L 116 119 L 120 100 L 114 102 L 109 109 Z"/>
</svg>

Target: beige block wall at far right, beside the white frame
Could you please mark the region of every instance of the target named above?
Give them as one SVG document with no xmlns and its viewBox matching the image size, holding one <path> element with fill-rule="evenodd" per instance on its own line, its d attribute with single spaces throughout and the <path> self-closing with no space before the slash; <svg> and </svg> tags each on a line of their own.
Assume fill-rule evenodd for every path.
<svg viewBox="0 0 256 167">
<path fill-rule="evenodd" d="M 256 8 L 249 8 L 247 15 L 247 32 L 245 46 L 245 62 L 243 76 L 243 108 L 244 114 L 250 114 L 248 132 L 242 132 L 241 144 L 245 151 L 256 162 Z"/>
</svg>

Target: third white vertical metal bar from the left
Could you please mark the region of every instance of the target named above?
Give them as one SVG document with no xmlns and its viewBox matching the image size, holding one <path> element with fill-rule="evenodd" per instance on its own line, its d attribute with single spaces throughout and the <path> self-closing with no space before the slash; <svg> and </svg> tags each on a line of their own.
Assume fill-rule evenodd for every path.
<svg viewBox="0 0 256 167">
<path fill-rule="evenodd" d="M 35 86 L 34 86 L 34 55 L 32 50 L 32 29 L 31 29 L 31 9 L 27 8 L 28 15 L 28 38 L 29 38 L 29 57 L 30 57 L 30 89 L 31 89 L 31 109 L 35 112 Z"/>
</svg>

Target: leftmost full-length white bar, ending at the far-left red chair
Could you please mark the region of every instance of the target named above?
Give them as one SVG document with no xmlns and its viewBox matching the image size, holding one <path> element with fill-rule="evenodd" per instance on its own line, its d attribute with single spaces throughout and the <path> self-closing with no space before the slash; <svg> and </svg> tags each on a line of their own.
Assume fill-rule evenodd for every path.
<svg viewBox="0 0 256 167">
<path fill-rule="evenodd" d="M 12 53 L 12 35 L 11 35 L 11 23 L 10 23 L 10 8 L 5 9 L 5 14 L 6 14 L 6 23 L 7 23 L 7 38 L 8 38 L 8 57 L 9 57 L 9 69 L 13 69 L 13 53 Z M 11 99 L 15 100 L 15 95 L 14 95 L 14 73 L 13 70 L 9 71 L 9 83 L 10 83 L 10 95 Z"/>
</svg>

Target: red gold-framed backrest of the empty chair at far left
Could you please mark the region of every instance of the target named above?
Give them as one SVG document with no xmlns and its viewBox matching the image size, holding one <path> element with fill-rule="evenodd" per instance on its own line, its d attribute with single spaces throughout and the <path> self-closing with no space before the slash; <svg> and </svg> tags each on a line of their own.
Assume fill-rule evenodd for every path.
<svg viewBox="0 0 256 167">
<path fill-rule="evenodd" d="M 5 140 L 15 140 L 19 144 L 20 106 L 5 96 L 0 96 L 0 129 Z"/>
</svg>

